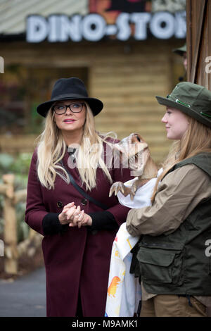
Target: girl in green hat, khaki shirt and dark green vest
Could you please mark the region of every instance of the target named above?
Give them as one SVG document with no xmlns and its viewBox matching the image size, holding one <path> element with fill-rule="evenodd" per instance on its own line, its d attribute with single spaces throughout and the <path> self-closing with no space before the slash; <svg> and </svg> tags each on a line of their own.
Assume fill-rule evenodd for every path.
<svg viewBox="0 0 211 331">
<path fill-rule="evenodd" d="M 180 82 L 162 118 L 174 145 L 152 205 L 132 208 L 127 230 L 141 236 L 136 262 L 141 317 L 207 316 L 211 307 L 211 92 Z M 136 269 L 137 270 L 137 269 Z"/>
</svg>

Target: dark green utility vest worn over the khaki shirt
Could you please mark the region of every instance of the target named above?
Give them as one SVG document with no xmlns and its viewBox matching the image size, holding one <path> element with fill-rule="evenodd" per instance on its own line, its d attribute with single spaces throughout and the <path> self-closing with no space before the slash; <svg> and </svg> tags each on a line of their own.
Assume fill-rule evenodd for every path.
<svg viewBox="0 0 211 331">
<path fill-rule="evenodd" d="M 181 161 L 170 172 L 188 163 L 195 164 L 211 177 L 210 154 L 198 154 Z M 146 291 L 210 296 L 211 258 L 205 255 L 207 239 L 211 239 L 211 196 L 201 201 L 170 235 L 143 235 L 137 259 Z"/>
</svg>

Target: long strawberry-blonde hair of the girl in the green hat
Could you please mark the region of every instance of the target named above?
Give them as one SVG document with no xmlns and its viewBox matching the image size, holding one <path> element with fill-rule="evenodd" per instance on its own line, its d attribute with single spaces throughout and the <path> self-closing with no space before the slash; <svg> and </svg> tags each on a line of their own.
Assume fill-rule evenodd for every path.
<svg viewBox="0 0 211 331">
<path fill-rule="evenodd" d="M 202 152 L 211 153 L 211 128 L 199 123 L 194 118 L 187 116 L 188 129 L 181 140 L 177 140 L 172 144 L 170 153 L 164 163 L 162 163 L 163 171 L 158 176 L 155 184 L 151 201 L 155 200 L 155 195 L 158 190 L 160 180 L 168 173 L 168 171 L 180 161 L 191 158 Z"/>
</svg>

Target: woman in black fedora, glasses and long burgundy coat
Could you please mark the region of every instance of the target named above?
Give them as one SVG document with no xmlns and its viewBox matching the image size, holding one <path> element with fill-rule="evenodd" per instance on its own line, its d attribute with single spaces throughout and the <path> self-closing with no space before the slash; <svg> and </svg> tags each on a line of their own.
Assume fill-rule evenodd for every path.
<svg viewBox="0 0 211 331">
<path fill-rule="evenodd" d="M 77 77 L 58 80 L 37 107 L 45 128 L 32 156 L 25 221 L 44 235 L 47 316 L 105 313 L 110 251 L 129 211 L 108 194 L 130 173 L 112 165 L 117 140 L 96 132 L 102 109 Z"/>
</svg>

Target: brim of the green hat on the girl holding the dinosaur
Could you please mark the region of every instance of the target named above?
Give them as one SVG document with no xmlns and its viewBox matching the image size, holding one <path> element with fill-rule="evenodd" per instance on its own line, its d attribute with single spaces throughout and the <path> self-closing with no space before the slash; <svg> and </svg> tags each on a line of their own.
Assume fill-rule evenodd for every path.
<svg viewBox="0 0 211 331">
<path fill-rule="evenodd" d="M 169 98 L 163 98 L 162 96 L 156 96 L 156 99 L 159 104 L 179 109 L 179 111 L 182 111 L 186 115 L 198 120 L 198 122 L 211 127 L 211 120 L 208 120 L 207 118 L 205 119 L 202 115 L 194 111 L 193 108 L 183 106 L 182 104 L 178 104 L 176 101 L 170 100 Z"/>
</svg>

